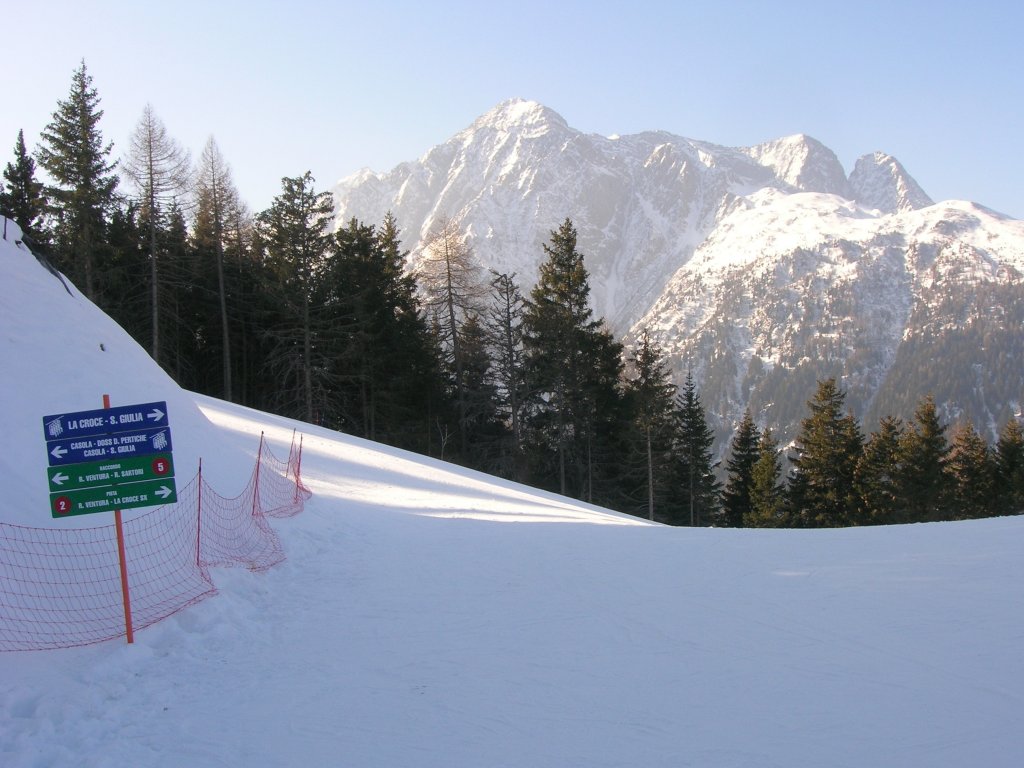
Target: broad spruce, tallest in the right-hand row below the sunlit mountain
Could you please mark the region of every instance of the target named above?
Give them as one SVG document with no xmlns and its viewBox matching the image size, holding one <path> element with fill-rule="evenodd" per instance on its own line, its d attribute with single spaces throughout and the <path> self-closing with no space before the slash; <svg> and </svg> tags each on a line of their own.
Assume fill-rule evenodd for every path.
<svg viewBox="0 0 1024 768">
<path fill-rule="evenodd" d="M 788 497 L 795 521 L 807 527 L 863 522 L 854 490 L 863 440 L 856 420 L 844 413 L 845 401 L 835 379 L 819 381 L 797 435 Z"/>
</svg>

